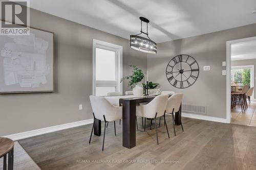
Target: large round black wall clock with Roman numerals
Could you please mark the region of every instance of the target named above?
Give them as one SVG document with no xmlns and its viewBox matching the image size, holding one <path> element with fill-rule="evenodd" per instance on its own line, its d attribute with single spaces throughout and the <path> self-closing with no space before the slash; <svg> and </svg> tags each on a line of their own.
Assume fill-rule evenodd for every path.
<svg viewBox="0 0 256 170">
<path fill-rule="evenodd" d="M 187 88 L 193 85 L 198 75 L 198 63 L 193 57 L 188 55 L 175 56 L 166 67 L 168 82 L 177 88 Z"/>
</svg>

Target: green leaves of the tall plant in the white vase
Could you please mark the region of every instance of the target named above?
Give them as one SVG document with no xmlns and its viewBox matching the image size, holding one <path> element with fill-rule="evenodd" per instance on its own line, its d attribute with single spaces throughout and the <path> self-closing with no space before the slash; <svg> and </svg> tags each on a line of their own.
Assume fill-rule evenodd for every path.
<svg viewBox="0 0 256 170">
<path fill-rule="evenodd" d="M 124 80 L 130 80 L 128 82 L 128 85 L 131 86 L 131 88 L 133 88 L 134 85 L 137 85 L 139 82 L 141 82 L 141 80 L 144 78 L 144 74 L 142 72 L 141 69 L 139 69 L 136 65 L 130 65 L 131 67 L 133 67 L 133 74 L 130 76 L 125 76 L 120 80 L 120 83 Z"/>
</svg>

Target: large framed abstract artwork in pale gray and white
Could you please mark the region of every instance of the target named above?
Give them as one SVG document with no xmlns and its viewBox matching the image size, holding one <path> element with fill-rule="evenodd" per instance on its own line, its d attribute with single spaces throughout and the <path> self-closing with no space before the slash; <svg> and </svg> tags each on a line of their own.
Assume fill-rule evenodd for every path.
<svg viewBox="0 0 256 170">
<path fill-rule="evenodd" d="M 0 93 L 54 91 L 54 34 L 29 29 L 0 35 Z"/>
</svg>

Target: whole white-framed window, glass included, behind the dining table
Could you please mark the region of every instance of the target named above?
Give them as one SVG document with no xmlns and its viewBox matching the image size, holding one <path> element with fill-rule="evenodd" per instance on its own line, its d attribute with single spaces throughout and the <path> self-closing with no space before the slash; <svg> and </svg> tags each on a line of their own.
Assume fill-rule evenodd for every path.
<svg viewBox="0 0 256 170">
<path fill-rule="evenodd" d="M 93 95 L 122 92 L 122 49 L 120 45 L 93 40 Z"/>
</svg>

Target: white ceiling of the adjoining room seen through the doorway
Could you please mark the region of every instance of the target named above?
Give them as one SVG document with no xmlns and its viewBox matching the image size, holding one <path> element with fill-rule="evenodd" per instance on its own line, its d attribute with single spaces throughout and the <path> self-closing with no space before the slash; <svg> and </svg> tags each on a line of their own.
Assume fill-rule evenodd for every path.
<svg viewBox="0 0 256 170">
<path fill-rule="evenodd" d="M 256 40 L 231 45 L 231 60 L 256 59 Z"/>
</svg>

